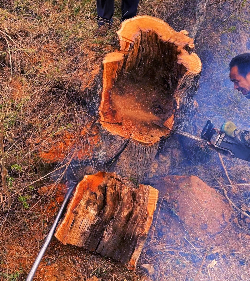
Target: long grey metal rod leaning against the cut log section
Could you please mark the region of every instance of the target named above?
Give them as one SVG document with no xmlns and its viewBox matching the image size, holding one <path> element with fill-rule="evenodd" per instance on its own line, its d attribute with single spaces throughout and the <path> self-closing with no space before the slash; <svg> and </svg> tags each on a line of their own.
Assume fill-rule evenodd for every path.
<svg viewBox="0 0 250 281">
<path fill-rule="evenodd" d="M 41 248 L 40 252 L 38 253 L 38 255 L 37 255 L 37 257 L 36 257 L 36 259 L 35 259 L 35 261 L 34 261 L 34 263 L 32 265 L 32 268 L 30 269 L 30 272 L 29 272 L 29 274 L 28 274 L 28 276 L 26 278 L 26 281 L 32 281 L 33 280 L 33 277 L 34 277 L 34 275 L 35 275 L 35 273 L 37 271 L 37 268 L 38 268 L 38 266 L 39 266 L 39 264 L 40 264 L 40 262 L 42 260 L 42 257 L 44 255 L 45 251 L 48 248 L 48 245 L 49 245 L 49 243 L 50 243 L 50 241 L 51 241 L 51 239 L 53 237 L 53 234 L 54 234 L 54 232 L 56 230 L 58 222 L 59 222 L 60 218 L 62 217 L 63 211 L 64 211 L 65 207 L 67 206 L 69 198 L 70 198 L 70 196 L 71 196 L 71 194 L 72 194 L 72 192 L 73 192 L 73 190 L 74 190 L 76 185 L 77 185 L 77 183 L 75 183 L 75 182 L 71 183 L 69 185 L 69 189 L 68 189 L 67 194 L 65 195 L 65 198 L 63 200 L 62 206 L 61 206 L 61 208 L 60 208 L 60 210 L 59 210 L 59 212 L 57 214 L 57 217 L 56 217 L 56 219 L 55 219 L 55 221 L 54 221 L 54 223 L 53 223 L 53 225 L 52 225 L 52 227 L 51 227 L 51 229 L 50 229 L 50 231 L 49 231 L 49 233 L 48 233 L 48 235 L 47 235 L 47 237 L 46 237 L 46 239 L 45 239 L 45 241 L 44 241 L 44 243 L 42 245 L 42 248 Z"/>
</svg>

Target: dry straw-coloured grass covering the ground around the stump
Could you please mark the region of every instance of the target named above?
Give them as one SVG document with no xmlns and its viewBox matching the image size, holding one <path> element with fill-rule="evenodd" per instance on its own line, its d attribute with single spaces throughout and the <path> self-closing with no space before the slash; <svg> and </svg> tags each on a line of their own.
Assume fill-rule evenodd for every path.
<svg viewBox="0 0 250 281">
<path fill-rule="evenodd" d="M 140 3 L 138 13 L 162 18 L 177 31 L 190 30 L 194 3 L 145 0 Z M 78 138 L 81 127 L 94 120 L 95 109 L 86 105 L 103 56 L 116 46 L 115 30 L 120 18 L 120 3 L 116 1 L 114 28 L 107 37 L 95 38 L 95 4 L 93 0 L 0 0 L 0 117 L 4 120 L 4 166 L 8 171 L 6 183 L 11 199 L 7 209 L 9 198 L 0 190 L 1 280 L 23 280 L 27 275 L 59 207 L 55 198 L 37 195 L 38 188 L 48 183 L 55 168 L 43 163 L 37 156 L 38 151 L 62 140 L 65 129 Z M 229 59 L 244 51 L 240 42 L 249 32 L 247 5 L 249 1 L 211 1 L 196 34 L 196 52 L 204 69 L 202 91 L 198 93 L 198 129 L 208 117 L 217 124 L 227 118 L 241 123 L 249 120 L 247 101 L 228 93 L 227 85 L 222 83 L 227 79 L 224 74 Z M 91 126 L 88 128 L 87 135 L 91 137 Z M 88 145 L 88 138 L 82 139 L 82 145 Z M 71 151 L 64 165 L 70 157 Z M 210 163 L 206 159 L 210 159 Z M 183 169 L 183 174 L 192 171 L 211 186 L 217 186 L 211 178 L 224 177 L 219 164 L 206 155 L 198 161 L 194 156 L 192 162 L 191 167 Z M 228 160 L 226 165 L 229 169 L 232 167 L 229 176 L 234 183 L 246 179 L 238 186 L 239 196 L 235 199 L 239 202 L 249 190 L 246 184 L 249 166 L 238 160 Z M 225 181 L 223 184 L 227 185 Z M 54 204 L 53 212 L 51 204 Z M 248 232 L 243 222 L 240 227 L 241 231 Z M 249 260 L 247 252 L 237 253 L 230 261 L 225 259 L 216 273 L 190 261 L 193 254 L 190 247 L 172 249 L 166 243 L 148 243 L 140 262 L 152 263 L 157 268 L 157 274 L 152 277 L 155 280 L 224 281 L 244 280 L 244 275 L 248 276 L 246 267 L 240 267 L 237 273 L 238 260 Z M 199 255 L 204 258 L 208 250 L 198 249 Z M 139 269 L 135 273 L 126 272 L 115 261 L 72 246 L 62 247 L 55 239 L 46 255 L 40 275 L 34 280 L 44 280 L 50 263 L 58 280 L 64 280 L 63 274 L 70 280 L 85 280 L 91 275 L 107 281 L 142 280 Z M 223 272 L 223 268 L 227 268 L 227 272 Z"/>
</svg>

